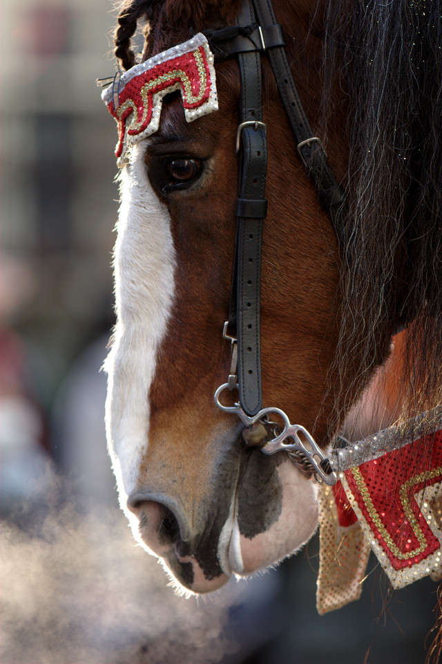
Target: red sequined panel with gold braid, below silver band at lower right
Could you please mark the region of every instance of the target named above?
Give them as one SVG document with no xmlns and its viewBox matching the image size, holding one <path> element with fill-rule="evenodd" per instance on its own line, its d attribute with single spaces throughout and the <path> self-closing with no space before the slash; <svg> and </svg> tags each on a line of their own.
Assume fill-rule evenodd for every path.
<svg viewBox="0 0 442 664">
<path fill-rule="evenodd" d="M 393 587 L 439 575 L 442 431 L 341 471 L 338 477 Z"/>
</svg>

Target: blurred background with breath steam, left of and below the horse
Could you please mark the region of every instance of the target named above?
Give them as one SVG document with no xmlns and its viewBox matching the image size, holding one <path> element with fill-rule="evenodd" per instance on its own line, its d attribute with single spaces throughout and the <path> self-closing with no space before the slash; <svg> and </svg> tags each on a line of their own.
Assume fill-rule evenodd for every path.
<svg viewBox="0 0 442 664">
<path fill-rule="evenodd" d="M 2 664 L 417 663 L 430 581 L 318 616 L 317 541 L 277 572 L 176 597 L 119 513 L 99 369 L 113 325 L 109 0 L 0 8 Z M 387 602 L 387 600 L 389 600 Z"/>
</svg>

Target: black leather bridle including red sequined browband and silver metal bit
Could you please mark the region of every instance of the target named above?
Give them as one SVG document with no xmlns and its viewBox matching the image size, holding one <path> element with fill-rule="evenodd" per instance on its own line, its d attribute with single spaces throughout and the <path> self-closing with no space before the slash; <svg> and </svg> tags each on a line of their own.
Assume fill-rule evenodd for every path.
<svg viewBox="0 0 442 664">
<path fill-rule="evenodd" d="M 195 53 L 198 53 L 200 65 L 196 64 Z M 215 403 L 222 411 L 240 417 L 247 427 L 242 435 L 248 445 L 259 445 L 265 454 L 285 450 L 302 472 L 334 484 L 336 474 L 309 432 L 300 425 L 291 425 L 282 410 L 262 408 L 260 273 L 262 228 L 267 215 L 267 127 L 262 121 L 261 81 L 261 57 L 264 54 L 269 57 L 294 132 L 298 156 L 316 186 L 318 201 L 327 210 L 338 240 L 343 243 L 343 220 L 347 215 L 345 192 L 336 181 L 323 145 L 311 131 L 302 108 L 285 55 L 282 28 L 276 23 L 271 0 L 244 0 L 235 26 L 205 30 L 193 35 L 188 42 L 172 46 L 133 66 L 124 74 L 117 71 L 112 85 L 102 93 L 102 99 L 117 120 L 119 142 L 115 156 L 119 167 L 124 167 L 128 163 L 128 145 L 157 131 L 164 94 L 180 88 L 180 76 L 189 84 L 186 71 L 181 67 L 185 70 L 196 66 L 198 70 L 198 74 L 194 71 L 193 75 L 198 78 L 200 96 L 193 98 L 190 84 L 182 91 L 186 120 L 191 121 L 218 109 L 213 60 L 220 62 L 238 57 L 241 85 L 236 132 L 236 242 L 229 317 L 223 329 L 224 338 L 231 342 L 231 369 L 228 381 L 215 392 Z M 213 85 L 210 82 L 212 77 Z M 106 81 L 110 82 L 102 80 L 104 84 Z M 131 120 L 128 120 L 129 116 Z M 239 401 L 234 406 L 222 403 L 221 395 L 225 389 L 238 389 Z M 276 421 L 271 416 L 276 416 Z"/>
</svg>

